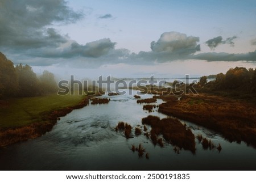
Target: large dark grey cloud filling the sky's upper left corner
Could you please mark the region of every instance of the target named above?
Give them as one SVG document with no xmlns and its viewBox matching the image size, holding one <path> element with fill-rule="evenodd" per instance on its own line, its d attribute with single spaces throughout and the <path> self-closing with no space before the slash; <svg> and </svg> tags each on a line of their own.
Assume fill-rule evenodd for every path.
<svg viewBox="0 0 256 182">
<path fill-rule="evenodd" d="M 61 0 L 2 1 L 0 46 L 10 46 L 13 49 L 56 46 L 64 43 L 66 37 L 59 35 L 55 29 L 46 27 L 74 23 L 82 16 L 81 12 L 73 11 Z"/>
</svg>

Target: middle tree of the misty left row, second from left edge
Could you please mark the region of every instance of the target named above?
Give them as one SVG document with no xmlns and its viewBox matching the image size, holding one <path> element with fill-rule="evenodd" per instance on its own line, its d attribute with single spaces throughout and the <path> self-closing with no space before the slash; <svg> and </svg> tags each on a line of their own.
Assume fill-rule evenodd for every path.
<svg viewBox="0 0 256 182">
<path fill-rule="evenodd" d="M 16 65 L 15 70 L 18 74 L 19 96 L 39 95 L 39 81 L 32 67 L 19 64 Z"/>
</svg>

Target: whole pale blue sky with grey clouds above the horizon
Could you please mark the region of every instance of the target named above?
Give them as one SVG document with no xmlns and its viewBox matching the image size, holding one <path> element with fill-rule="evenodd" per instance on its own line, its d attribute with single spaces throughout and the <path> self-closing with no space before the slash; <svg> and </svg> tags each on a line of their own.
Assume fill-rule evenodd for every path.
<svg viewBox="0 0 256 182">
<path fill-rule="evenodd" d="M 0 0 L 0 52 L 59 78 L 256 67 L 256 1 Z"/>
</svg>

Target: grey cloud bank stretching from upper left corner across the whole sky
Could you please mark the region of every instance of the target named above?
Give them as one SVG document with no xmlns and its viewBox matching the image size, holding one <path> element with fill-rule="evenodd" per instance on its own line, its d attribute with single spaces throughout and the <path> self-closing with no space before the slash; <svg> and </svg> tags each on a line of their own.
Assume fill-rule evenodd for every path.
<svg viewBox="0 0 256 182">
<path fill-rule="evenodd" d="M 78 67 L 119 63 L 144 65 L 190 59 L 256 61 L 256 51 L 243 54 L 200 53 L 199 37 L 180 32 L 164 32 L 148 45 L 151 51 L 131 53 L 127 49 L 115 49 L 117 43 L 109 38 L 82 45 L 52 28 L 53 25 L 76 23 L 84 16 L 83 12 L 68 7 L 64 0 L 0 0 L 0 51 L 16 55 L 23 64 L 38 66 L 64 63 Z M 105 14 L 98 18 L 113 16 Z M 214 49 L 221 44 L 234 46 L 234 39 L 237 37 L 223 40 L 218 36 L 205 43 Z M 251 40 L 251 45 L 256 45 L 256 39 Z"/>
</svg>

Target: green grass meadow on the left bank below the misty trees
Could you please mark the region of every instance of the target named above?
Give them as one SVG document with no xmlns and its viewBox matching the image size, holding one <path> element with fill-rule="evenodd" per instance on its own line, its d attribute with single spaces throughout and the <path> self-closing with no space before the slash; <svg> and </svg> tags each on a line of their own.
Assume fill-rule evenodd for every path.
<svg viewBox="0 0 256 182">
<path fill-rule="evenodd" d="M 57 94 L 33 98 L 15 98 L 0 105 L 0 128 L 24 126 L 42 121 L 42 117 L 55 109 L 72 107 L 79 104 L 85 95 Z"/>
</svg>

